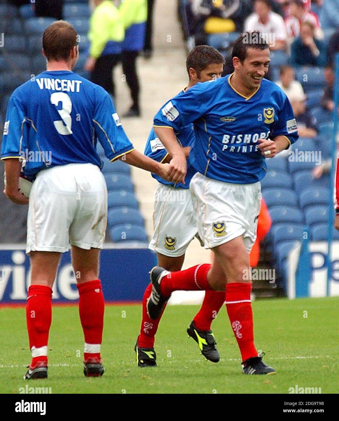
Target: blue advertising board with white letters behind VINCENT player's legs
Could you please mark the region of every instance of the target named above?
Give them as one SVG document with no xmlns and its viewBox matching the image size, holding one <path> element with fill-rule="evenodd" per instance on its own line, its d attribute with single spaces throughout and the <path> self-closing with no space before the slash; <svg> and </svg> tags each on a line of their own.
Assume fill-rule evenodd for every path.
<svg viewBox="0 0 339 421">
<path fill-rule="evenodd" d="M 100 279 L 106 302 L 142 301 L 149 283 L 149 270 L 156 254 L 148 248 L 116 248 L 105 245 L 100 257 Z M 70 252 L 63 253 L 53 285 L 53 302 L 76 303 L 76 287 Z M 0 248 L 0 305 L 25 304 L 30 280 L 29 257 L 25 246 Z"/>
</svg>

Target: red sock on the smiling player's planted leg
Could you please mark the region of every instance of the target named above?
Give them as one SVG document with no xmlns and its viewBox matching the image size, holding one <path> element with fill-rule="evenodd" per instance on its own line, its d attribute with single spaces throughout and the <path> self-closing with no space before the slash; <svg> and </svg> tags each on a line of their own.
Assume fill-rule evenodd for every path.
<svg viewBox="0 0 339 421">
<path fill-rule="evenodd" d="M 258 356 L 254 346 L 251 290 L 250 283 L 226 285 L 226 309 L 243 361 Z"/>
</svg>

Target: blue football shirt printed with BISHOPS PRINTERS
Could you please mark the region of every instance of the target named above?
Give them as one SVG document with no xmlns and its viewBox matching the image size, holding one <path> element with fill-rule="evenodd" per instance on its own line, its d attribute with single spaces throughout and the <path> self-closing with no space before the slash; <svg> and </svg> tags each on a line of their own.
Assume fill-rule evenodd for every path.
<svg viewBox="0 0 339 421">
<path fill-rule="evenodd" d="M 193 168 L 211 179 L 250 184 L 260 181 L 267 168 L 258 139 L 283 135 L 292 144 L 299 138 L 297 122 L 278 85 L 263 79 L 245 97 L 232 87 L 231 76 L 197 83 L 175 96 L 156 114 L 154 126 L 180 132 L 193 123 Z"/>
</svg>

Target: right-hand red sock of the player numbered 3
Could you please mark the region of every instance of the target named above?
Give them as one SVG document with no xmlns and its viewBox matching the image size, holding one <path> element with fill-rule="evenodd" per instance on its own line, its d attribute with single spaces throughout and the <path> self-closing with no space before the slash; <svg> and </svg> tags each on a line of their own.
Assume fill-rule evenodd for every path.
<svg viewBox="0 0 339 421">
<path fill-rule="evenodd" d="M 98 358 L 103 331 L 103 293 L 100 279 L 78 284 L 79 316 L 85 336 L 84 360 Z"/>
</svg>

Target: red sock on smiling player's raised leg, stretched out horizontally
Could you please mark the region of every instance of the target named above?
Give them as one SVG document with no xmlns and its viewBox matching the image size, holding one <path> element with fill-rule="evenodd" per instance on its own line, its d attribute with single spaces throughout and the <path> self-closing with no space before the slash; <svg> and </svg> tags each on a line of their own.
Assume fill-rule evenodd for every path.
<svg viewBox="0 0 339 421">
<path fill-rule="evenodd" d="M 213 290 L 207 282 L 207 272 L 211 268 L 210 264 L 199 264 L 186 270 L 170 272 L 162 278 L 161 292 L 165 297 L 169 297 L 173 291 L 197 291 Z"/>
</svg>

